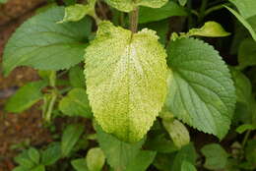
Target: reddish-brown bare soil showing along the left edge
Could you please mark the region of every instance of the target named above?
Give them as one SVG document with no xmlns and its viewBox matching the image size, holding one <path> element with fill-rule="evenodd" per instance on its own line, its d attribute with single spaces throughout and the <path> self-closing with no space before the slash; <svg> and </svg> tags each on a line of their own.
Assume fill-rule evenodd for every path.
<svg viewBox="0 0 256 171">
<path fill-rule="evenodd" d="M 0 63 L 8 38 L 44 1 L 9 0 L 0 7 Z M 0 171 L 10 171 L 15 166 L 13 157 L 21 147 L 14 146 L 24 142 L 36 146 L 51 141 L 50 134 L 42 126 L 38 106 L 21 114 L 4 112 L 6 99 L 17 87 L 37 79 L 36 71 L 27 67 L 16 69 L 7 78 L 0 73 Z"/>
</svg>

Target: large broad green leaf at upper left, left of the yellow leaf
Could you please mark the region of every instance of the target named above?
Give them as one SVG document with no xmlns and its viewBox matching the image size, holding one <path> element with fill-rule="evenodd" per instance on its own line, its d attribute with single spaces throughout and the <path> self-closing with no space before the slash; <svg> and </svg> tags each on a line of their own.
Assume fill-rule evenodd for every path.
<svg viewBox="0 0 256 171">
<path fill-rule="evenodd" d="M 68 69 L 83 60 L 92 22 L 58 25 L 64 8 L 54 7 L 25 22 L 9 39 L 3 56 L 4 74 L 15 67 L 31 66 L 39 70 Z"/>
</svg>

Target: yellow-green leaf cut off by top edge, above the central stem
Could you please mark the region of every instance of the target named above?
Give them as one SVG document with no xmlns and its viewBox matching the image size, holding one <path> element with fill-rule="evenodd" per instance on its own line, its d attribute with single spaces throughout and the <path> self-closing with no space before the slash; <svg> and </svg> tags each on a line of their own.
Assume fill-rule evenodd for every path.
<svg viewBox="0 0 256 171">
<path fill-rule="evenodd" d="M 146 6 L 151 8 L 160 8 L 168 0 L 105 0 L 105 2 L 122 12 L 131 12 L 138 6 Z"/>
</svg>

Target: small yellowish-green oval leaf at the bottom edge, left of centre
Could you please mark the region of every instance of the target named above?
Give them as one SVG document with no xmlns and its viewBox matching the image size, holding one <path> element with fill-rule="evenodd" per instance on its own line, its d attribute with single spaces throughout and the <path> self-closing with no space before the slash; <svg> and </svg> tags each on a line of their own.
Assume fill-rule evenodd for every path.
<svg viewBox="0 0 256 171">
<path fill-rule="evenodd" d="M 95 147 L 89 149 L 86 160 L 89 171 L 100 171 L 104 165 L 105 156 L 99 147 Z"/>
</svg>

